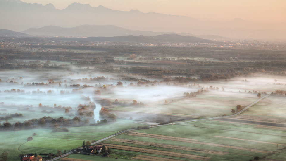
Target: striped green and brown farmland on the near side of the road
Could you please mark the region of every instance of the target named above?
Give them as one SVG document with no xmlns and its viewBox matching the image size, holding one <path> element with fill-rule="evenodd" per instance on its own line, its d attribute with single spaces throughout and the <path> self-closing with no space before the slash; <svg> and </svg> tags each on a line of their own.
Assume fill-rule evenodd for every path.
<svg viewBox="0 0 286 161">
<path fill-rule="evenodd" d="M 112 150 L 120 150 L 122 154 L 133 151 L 136 157 L 129 158 L 150 161 L 156 160 L 148 157 L 153 154 L 174 157 L 176 160 L 216 161 L 233 158 L 248 161 L 256 156 L 262 157 L 262 160 L 284 160 L 286 123 L 281 123 L 284 117 L 279 113 L 284 110 L 281 107 L 284 101 L 283 97 L 271 96 L 228 120 L 203 120 L 135 130 L 102 144 Z M 276 122 L 258 120 L 265 116 L 263 112 L 267 111 L 267 106 L 273 106 L 272 110 L 276 110 L 270 117 L 278 119 Z M 254 119 L 245 119 L 248 115 L 254 115 Z M 276 124 L 271 127 L 264 125 L 268 122 Z"/>
</svg>

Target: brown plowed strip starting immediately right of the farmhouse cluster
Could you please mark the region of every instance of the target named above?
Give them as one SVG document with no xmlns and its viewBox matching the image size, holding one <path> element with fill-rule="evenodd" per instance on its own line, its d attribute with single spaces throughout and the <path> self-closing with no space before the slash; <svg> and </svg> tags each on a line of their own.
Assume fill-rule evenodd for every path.
<svg viewBox="0 0 286 161">
<path fill-rule="evenodd" d="M 209 160 L 210 159 L 210 157 L 204 157 L 204 156 L 199 156 L 199 155 L 175 153 L 175 152 L 170 152 L 170 151 L 161 151 L 161 150 L 154 150 L 154 149 L 147 149 L 147 148 L 137 148 L 137 147 L 125 146 L 125 145 L 114 145 L 114 144 L 106 144 L 106 143 L 103 143 L 103 145 L 107 146 L 108 148 L 113 148 L 113 149 L 166 155 L 166 156 L 171 156 L 171 157 L 180 157 L 180 158 L 187 158 L 187 159 L 194 159 L 194 160 Z"/>
</svg>

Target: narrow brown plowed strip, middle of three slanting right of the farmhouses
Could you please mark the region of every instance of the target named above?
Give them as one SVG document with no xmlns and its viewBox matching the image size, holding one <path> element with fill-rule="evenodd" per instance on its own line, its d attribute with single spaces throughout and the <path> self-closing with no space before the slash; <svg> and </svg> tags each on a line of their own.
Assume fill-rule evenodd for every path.
<svg viewBox="0 0 286 161">
<path fill-rule="evenodd" d="M 111 140 L 116 141 L 116 142 L 121 142 L 121 143 L 131 143 L 131 144 L 136 144 L 136 145 L 147 145 L 147 146 L 154 146 L 154 147 L 161 147 L 161 148 L 171 148 L 171 149 L 184 150 L 184 151 L 195 151 L 195 152 L 207 153 L 207 154 L 216 154 L 216 155 L 228 154 L 227 152 L 221 152 L 221 151 L 189 148 L 189 147 L 184 147 L 184 146 L 167 145 L 167 144 L 144 142 L 144 141 L 137 141 L 137 140 L 116 139 L 116 138 L 111 139 Z"/>
</svg>

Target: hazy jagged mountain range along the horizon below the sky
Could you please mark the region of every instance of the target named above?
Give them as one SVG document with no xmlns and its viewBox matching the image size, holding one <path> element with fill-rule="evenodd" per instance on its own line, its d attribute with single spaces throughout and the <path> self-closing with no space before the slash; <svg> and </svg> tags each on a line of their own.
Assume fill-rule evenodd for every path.
<svg viewBox="0 0 286 161">
<path fill-rule="evenodd" d="M 285 39 L 286 23 L 263 24 L 241 19 L 227 22 L 200 21 L 192 17 L 143 13 L 139 10 L 119 11 L 102 5 L 72 3 L 65 9 L 52 4 L 31 4 L 20 0 L 0 0 L 0 28 L 24 31 L 28 28 L 61 26 L 71 28 L 84 24 L 114 25 L 130 30 L 163 33 L 220 35 L 241 39 Z"/>
</svg>

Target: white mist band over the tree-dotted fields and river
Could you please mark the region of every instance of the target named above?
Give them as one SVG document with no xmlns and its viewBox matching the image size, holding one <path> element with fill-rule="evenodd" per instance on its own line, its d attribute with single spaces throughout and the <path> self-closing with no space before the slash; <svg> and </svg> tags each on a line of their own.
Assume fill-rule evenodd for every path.
<svg viewBox="0 0 286 161">
<path fill-rule="evenodd" d="M 196 85 L 166 85 L 158 82 L 153 85 L 151 83 L 140 84 L 139 86 L 136 81 L 123 80 L 122 75 L 119 74 L 83 72 L 76 68 L 62 71 L 2 71 L 0 79 L 2 80 L 0 82 L 0 102 L 2 102 L 0 109 L 5 109 L 9 106 L 2 113 L 23 113 L 23 111 L 18 109 L 27 107 L 39 112 L 42 110 L 38 108 L 39 103 L 41 103 L 49 108 L 54 107 L 54 104 L 62 107 L 70 106 L 73 109 L 72 114 L 76 115 L 79 104 L 88 105 L 89 102 L 94 102 L 96 105 L 94 120 L 100 120 L 99 111 L 102 108 L 97 99 L 107 99 L 111 102 L 118 99 L 120 102 L 125 103 L 124 106 L 128 105 L 130 108 L 132 107 L 132 101 L 136 100 L 138 103 L 144 104 L 144 108 L 135 107 L 136 111 L 139 112 L 161 113 L 168 110 L 169 112 L 174 112 L 172 110 L 176 108 L 192 111 L 198 107 L 192 111 L 196 115 L 196 113 L 201 114 L 201 112 L 209 109 L 219 108 L 221 102 L 216 100 L 217 98 L 213 98 L 216 96 L 220 96 L 221 99 L 225 100 L 233 100 L 235 97 L 237 99 L 248 99 L 248 101 L 231 102 L 231 106 L 235 106 L 235 103 L 247 105 L 257 98 L 256 94 L 248 93 L 249 91 L 257 90 L 269 93 L 276 89 L 286 89 L 286 79 L 279 76 L 239 77 L 232 78 L 226 82 L 212 81 Z M 116 86 L 119 81 L 123 83 L 122 86 Z M 213 89 L 209 89 L 209 86 L 212 86 Z M 196 92 L 202 88 L 209 92 L 198 96 L 199 99 L 181 100 L 184 98 L 185 92 Z M 100 95 L 95 94 L 97 90 L 100 91 Z M 210 99 L 214 100 L 211 101 Z M 166 104 L 166 101 L 168 104 Z M 213 102 L 214 106 L 212 106 L 211 102 Z M 226 111 L 229 111 L 229 109 L 226 108 Z M 42 115 L 59 116 L 64 114 L 63 111 L 57 111 L 56 113 Z M 38 118 L 37 115 L 33 117 Z"/>
</svg>

